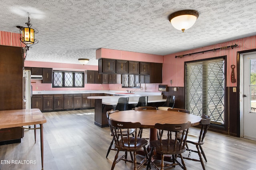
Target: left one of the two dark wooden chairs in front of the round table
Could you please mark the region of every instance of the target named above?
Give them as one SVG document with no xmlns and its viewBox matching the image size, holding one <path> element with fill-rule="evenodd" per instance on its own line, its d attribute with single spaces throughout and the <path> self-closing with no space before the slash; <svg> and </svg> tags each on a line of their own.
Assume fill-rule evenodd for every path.
<svg viewBox="0 0 256 170">
<path fill-rule="evenodd" d="M 146 149 L 146 145 L 148 144 L 148 141 L 146 139 L 140 139 L 137 137 L 137 128 L 141 127 L 141 124 L 139 122 L 136 122 L 136 123 L 121 122 L 121 121 L 115 121 L 113 119 L 109 119 L 109 125 L 114 137 L 114 145 L 115 145 L 115 148 L 117 149 L 116 156 L 114 158 L 111 170 L 114 170 L 116 163 L 118 163 L 120 160 L 133 163 L 134 170 L 138 170 L 140 167 L 142 167 L 145 163 L 148 162 L 148 151 Z M 124 130 L 124 128 L 126 128 L 126 130 Z M 130 135 L 126 135 L 129 133 L 131 128 L 135 129 L 134 137 L 130 137 Z M 124 131 L 126 131 L 125 135 L 124 135 Z M 120 135 L 119 135 L 119 132 L 120 132 Z M 136 152 L 140 151 L 142 148 L 145 153 L 145 158 L 140 163 L 138 163 L 136 159 Z M 124 151 L 125 154 L 118 158 L 118 154 L 120 151 Z M 127 159 L 127 152 L 133 152 L 133 157 L 131 155 L 132 160 Z"/>
</svg>

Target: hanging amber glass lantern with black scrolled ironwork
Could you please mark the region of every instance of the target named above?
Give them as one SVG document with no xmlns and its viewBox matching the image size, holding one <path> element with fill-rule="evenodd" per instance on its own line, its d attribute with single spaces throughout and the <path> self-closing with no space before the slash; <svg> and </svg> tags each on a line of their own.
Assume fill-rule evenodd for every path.
<svg viewBox="0 0 256 170">
<path fill-rule="evenodd" d="M 32 24 L 30 23 L 30 17 L 28 14 L 28 22 L 25 23 L 28 27 L 22 27 L 22 26 L 16 26 L 18 29 L 20 29 L 20 41 L 25 44 L 26 47 L 26 55 L 29 48 L 32 48 L 32 45 L 35 45 L 38 43 L 38 40 L 35 39 L 34 34 L 38 33 L 38 30 L 36 28 L 32 28 Z M 21 34 L 22 32 L 22 34 Z M 26 58 L 25 55 L 25 58 Z"/>
</svg>

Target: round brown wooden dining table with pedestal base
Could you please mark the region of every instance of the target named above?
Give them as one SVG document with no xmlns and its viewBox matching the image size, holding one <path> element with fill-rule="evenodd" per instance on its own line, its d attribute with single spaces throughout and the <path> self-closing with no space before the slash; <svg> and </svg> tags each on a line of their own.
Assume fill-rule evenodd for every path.
<svg viewBox="0 0 256 170">
<path fill-rule="evenodd" d="M 191 122 L 191 126 L 200 124 L 201 117 L 189 113 L 165 110 L 126 110 L 110 114 L 110 119 L 123 122 L 140 122 L 142 128 L 150 128 L 150 141 L 157 140 L 156 123 L 180 124 Z"/>
</svg>

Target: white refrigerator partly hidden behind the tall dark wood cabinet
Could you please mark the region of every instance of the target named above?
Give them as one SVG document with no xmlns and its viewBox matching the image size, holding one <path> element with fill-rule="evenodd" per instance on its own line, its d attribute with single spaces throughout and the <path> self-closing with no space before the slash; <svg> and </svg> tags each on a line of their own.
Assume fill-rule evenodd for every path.
<svg viewBox="0 0 256 170">
<path fill-rule="evenodd" d="M 31 109 L 31 72 L 30 70 L 23 71 L 23 109 Z"/>
</svg>

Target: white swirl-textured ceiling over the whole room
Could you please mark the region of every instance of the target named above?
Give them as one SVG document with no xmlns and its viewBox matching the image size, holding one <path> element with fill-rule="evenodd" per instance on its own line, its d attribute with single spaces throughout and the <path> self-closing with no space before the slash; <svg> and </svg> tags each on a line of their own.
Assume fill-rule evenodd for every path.
<svg viewBox="0 0 256 170">
<path fill-rule="evenodd" d="M 256 35 L 256 0 L 1 0 L 0 30 L 38 29 L 28 61 L 97 65 L 99 48 L 167 55 Z M 168 16 L 197 10 L 184 33 Z"/>
</svg>

